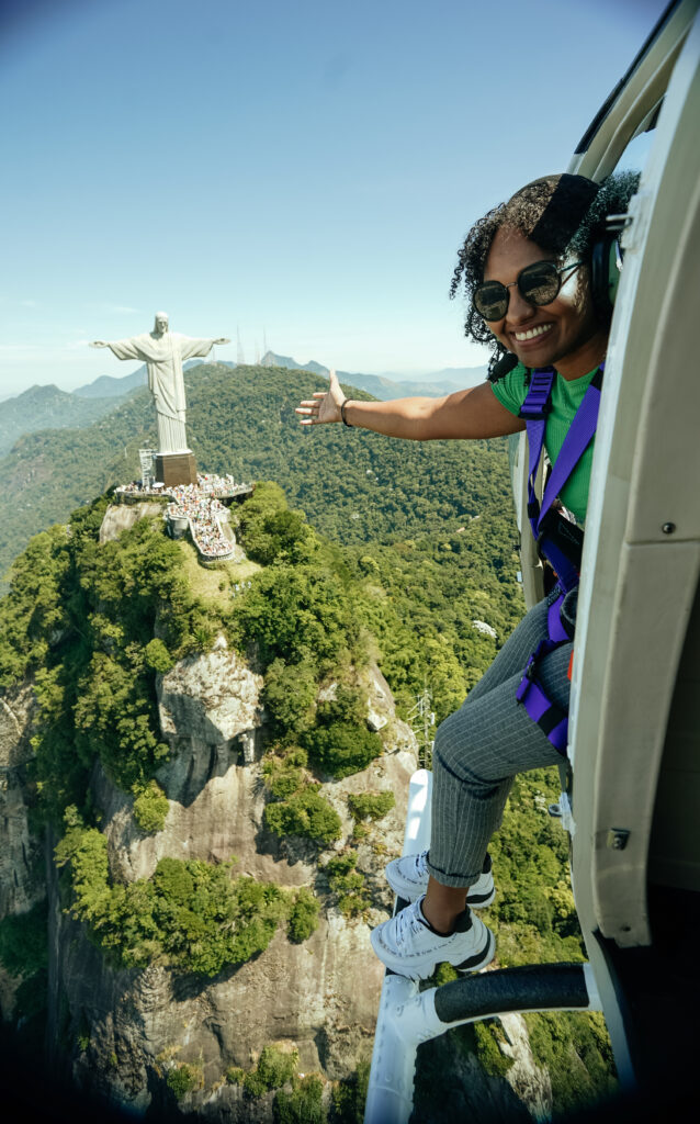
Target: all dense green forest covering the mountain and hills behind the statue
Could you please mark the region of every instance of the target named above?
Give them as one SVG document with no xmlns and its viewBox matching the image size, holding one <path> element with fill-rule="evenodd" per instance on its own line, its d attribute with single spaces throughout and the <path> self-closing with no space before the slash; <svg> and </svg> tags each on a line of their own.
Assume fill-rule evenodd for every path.
<svg viewBox="0 0 700 1124">
<path fill-rule="evenodd" d="M 354 850 L 330 861 L 324 854 L 339 831 L 324 783 L 382 752 L 362 718 L 358 670 L 376 660 L 403 716 L 428 687 L 440 720 L 490 664 L 524 606 L 502 442 L 413 445 L 340 426 L 303 433 L 293 407 L 319 383 L 312 375 L 202 366 L 188 380 L 200 468 L 276 481 L 258 484 L 237 509 L 238 537 L 261 568 L 251 588 L 234 597 L 234 571 L 224 563 L 215 572 L 216 596 L 204 592 L 187 544 L 169 540 L 158 518 L 98 545 L 108 498 L 93 497 L 135 475 L 136 451 L 152 442 L 145 395 L 89 429 L 34 435 L 13 453 L 16 470 L 43 473 L 43 506 L 33 518 L 48 526 L 61 516 L 62 481 L 73 496 L 62 504 L 83 506 L 69 529 L 43 531 L 12 566 L 11 593 L 0 599 L 0 691 L 27 674 L 35 682 L 42 715 L 30 778 L 35 830 L 49 823 L 61 836 L 64 907 L 117 963 L 155 961 L 211 976 L 264 949 L 279 926 L 290 940 L 306 940 L 322 903 L 307 888 L 294 896 L 272 883 L 244 886 L 235 868 L 175 860 L 158 864 L 151 880 L 111 885 L 88 779 L 99 759 L 131 794 L 142 830 L 162 827 L 166 801 L 155 774 L 169 750 L 157 723 L 156 674 L 208 650 L 221 632 L 256 661 L 271 716 L 266 826 L 312 841 L 328 900 L 362 916 L 369 897 Z M 6 538 L 6 556 L 19 545 Z M 330 674 L 340 688 L 333 703 L 319 705 L 319 686 Z M 557 792 L 554 770 L 518 779 L 493 842 L 498 895 L 488 923 L 502 964 L 584 955 L 566 837 L 546 814 Z M 360 840 L 365 822 L 381 824 L 387 806 L 378 795 L 349 810 Z M 240 939 L 227 944 L 217 934 L 233 919 Z M 45 924 L 42 909 L 0 923 L 0 959 L 24 978 L 18 1015 L 28 1023 L 40 1019 Z M 557 1117 L 611 1089 L 600 1016 L 528 1019 L 535 1055 L 549 1068 Z M 489 1072 L 507 1068 L 497 1026 L 453 1033 Z M 255 1084 L 254 1076 L 245 1079 Z"/>
</svg>

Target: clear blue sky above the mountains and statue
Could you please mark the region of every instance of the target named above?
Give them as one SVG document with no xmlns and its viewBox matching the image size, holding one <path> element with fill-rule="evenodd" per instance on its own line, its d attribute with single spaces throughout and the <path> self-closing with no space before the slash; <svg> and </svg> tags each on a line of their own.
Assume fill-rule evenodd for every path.
<svg viewBox="0 0 700 1124">
<path fill-rule="evenodd" d="M 4 0 L 0 396 L 149 330 L 419 374 L 483 361 L 471 223 L 565 167 L 663 0 Z"/>
</svg>

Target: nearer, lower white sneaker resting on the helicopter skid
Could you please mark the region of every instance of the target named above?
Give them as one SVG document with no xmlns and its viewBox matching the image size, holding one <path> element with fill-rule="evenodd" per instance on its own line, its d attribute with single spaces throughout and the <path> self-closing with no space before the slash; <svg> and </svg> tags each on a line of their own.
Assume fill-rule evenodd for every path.
<svg viewBox="0 0 700 1124">
<path fill-rule="evenodd" d="M 422 897 L 370 933 L 374 952 L 392 972 L 426 980 L 445 961 L 458 971 L 475 972 L 493 960 L 493 933 L 479 917 L 465 909 L 454 933 L 440 936 L 429 927 L 421 904 Z"/>
</svg>

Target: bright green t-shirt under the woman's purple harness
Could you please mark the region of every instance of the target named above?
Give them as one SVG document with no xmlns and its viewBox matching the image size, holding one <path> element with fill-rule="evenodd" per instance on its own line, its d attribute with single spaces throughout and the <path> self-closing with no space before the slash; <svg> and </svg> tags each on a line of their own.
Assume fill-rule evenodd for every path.
<svg viewBox="0 0 700 1124">
<path fill-rule="evenodd" d="M 558 373 L 554 379 L 552 384 L 552 413 L 547 415 L 547 425 L 545 428 L 545 448 L 552 464 L 556 463 L 574 414 L 583 401 L 583 396 L 597 370 L 598 368 L 594 368 L 588 374 L 582 374 L 580 379 L 572 379 L 571 381 L 563 379 Z M 527 368 L 518 363 L 512 371 L 509 371 L 506 378 L 491 383 L 493 393 L 499 402 L 511 414 L 519 414 L 520 407 L 525 401 L 527 395 L 526 377 Z M 581 524 L 585 522 L 594 441 L 596 438 L 590 442 L 581 460 L 562 488 L 560 496 L 564 507 L 567 507 Z"/>
</svg>

